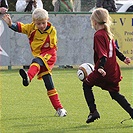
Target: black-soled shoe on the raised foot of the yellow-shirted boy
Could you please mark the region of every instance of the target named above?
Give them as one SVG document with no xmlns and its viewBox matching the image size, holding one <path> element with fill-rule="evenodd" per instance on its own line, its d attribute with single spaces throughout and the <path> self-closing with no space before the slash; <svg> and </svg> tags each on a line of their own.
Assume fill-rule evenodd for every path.
<svg viewBox="0 0 133 133">
<path fill-rule="evenodd" d="M 30 79 L 29 79 L 29 76 L 28 76 L 27 72 L 24 69 L 20 69 L 19 74 L 23 79 L 23 85 L 28 86 L 29 83 L 30 83 Z"/>
</svg>

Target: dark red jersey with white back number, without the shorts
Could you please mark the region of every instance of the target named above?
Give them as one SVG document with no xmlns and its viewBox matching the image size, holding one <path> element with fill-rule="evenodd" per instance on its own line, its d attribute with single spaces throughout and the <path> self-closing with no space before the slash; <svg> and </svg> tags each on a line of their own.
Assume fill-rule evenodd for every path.
<svg viewBox="0 0 133 133">
<path fill-rule="evenodd" d="M 107 57 L 104 70 L 106 71 L 105 79 L 112 82 L 120 81 L 120 68 L 116 61 L 116 45 L 110 40 L 105 30 L 99 30 L 94 35 L 94 62 L 95 68 L 98 69 L 101 57 Z"/>
</svg>

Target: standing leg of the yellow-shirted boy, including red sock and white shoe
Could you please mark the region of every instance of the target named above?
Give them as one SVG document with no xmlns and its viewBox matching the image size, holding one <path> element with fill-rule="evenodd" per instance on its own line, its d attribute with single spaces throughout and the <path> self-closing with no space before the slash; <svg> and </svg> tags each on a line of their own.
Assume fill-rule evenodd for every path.
<svg viewBox="0 0 133 133">
<path fill-rule="evenodd" d="M 46 74 L 43 77 L 44 84 L 47 89 L 47 95 L 54 107 L 54 109 L 57 111 L 58 116 L 66 116 L 67 112 L 63 108 L 59 95 L 57 93 L 57 90 L 54 88 L 53 80 L 50 74 Z"/>
</svg>

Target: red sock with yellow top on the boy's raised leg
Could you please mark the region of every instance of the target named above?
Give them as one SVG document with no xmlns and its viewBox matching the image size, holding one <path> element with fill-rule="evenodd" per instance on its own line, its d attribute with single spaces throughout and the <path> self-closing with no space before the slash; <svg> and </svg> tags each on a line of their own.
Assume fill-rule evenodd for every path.
<svg viewBox="0 0 133 133">
<path fill-rule="evenodd" d="M 28 76 L 30 78 L 30 81 L 34 78 L 34 76 L 40 71 L 40 66 L 37 63 L 32 63 L 30 65 L 30 68 L 28 70 Z"/>
</svg>

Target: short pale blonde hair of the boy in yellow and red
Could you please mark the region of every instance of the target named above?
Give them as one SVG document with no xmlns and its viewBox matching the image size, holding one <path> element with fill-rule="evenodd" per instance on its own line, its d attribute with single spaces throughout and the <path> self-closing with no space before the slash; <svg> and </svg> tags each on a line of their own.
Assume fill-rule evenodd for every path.
<svg viewBox="0 0 133 133">
<path fill-rule="evenodd" d="M 49 18 L 48 12 L 42 8 L 36 8 L 32 13 L 33 22 L 36 20 L 42 20 L 42 19 L 48 20 L 48 18 Z"/>
</svg>

